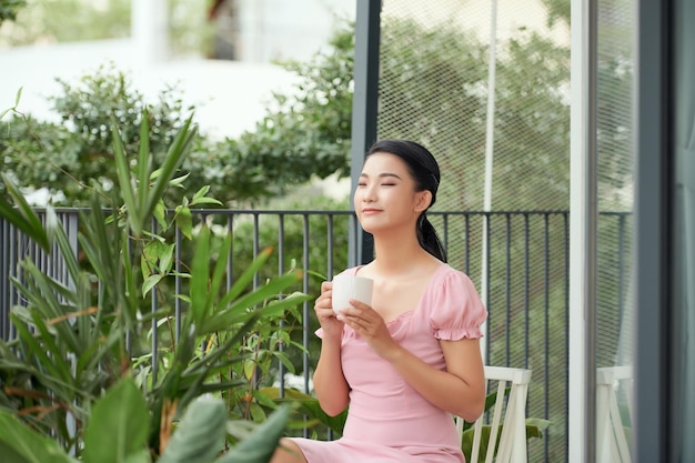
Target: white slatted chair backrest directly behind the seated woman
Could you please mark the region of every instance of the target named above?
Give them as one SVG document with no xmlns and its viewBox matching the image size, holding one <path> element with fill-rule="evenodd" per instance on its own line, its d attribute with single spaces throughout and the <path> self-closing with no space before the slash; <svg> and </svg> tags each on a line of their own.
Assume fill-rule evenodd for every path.
<svg viewBox="0 0 695 463">
<path fill-rule="evenodd" d="M 474 423 L 473 447 L 471 461 L 477 463 L 481 449 L 482 430 L 484 424 L 490 425 L 490 437 L 485 463 L 525 463 L 526 453 L 526 396 L 531 382 L 531 370 L 510 366 L 485 366 L 485 379 L 488 386 L 496 383 L 497 395 L 495 404 L 483 413 Z M 510 387 L 508 395 L 505 394 Z M 500 446 L 495 457 L 495 443 L 500 426 Z M 463 433 L 463 420 L 456 417 L 456 427 L 460 435 Z"/>
</svg>

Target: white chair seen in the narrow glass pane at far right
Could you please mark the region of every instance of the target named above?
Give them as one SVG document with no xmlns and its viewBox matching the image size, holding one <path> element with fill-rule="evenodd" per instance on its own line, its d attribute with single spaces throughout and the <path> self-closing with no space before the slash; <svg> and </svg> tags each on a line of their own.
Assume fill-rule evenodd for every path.
<svg viewBox="0 0 695 463">
<path fill-rule="evenodd" d="M 625 412 L 632 416 L 632 366 L 596 369 L 596 461 L 598 463 L 629 463 L 629 445 L 618 394 L 626 404 Z"/>
</svg>

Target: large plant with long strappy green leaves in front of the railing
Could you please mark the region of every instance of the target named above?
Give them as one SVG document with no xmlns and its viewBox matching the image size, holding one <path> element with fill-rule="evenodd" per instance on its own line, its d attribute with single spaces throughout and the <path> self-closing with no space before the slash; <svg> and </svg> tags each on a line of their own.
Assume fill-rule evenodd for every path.
<svg viewBox="0 0 695 463">
<path fill-rule="evenodd" d="M 19 426 L 17 434 L 0 435 L 12 461 L 49 461 L 32 456 L 40 451 L 62 455 L 63 461 L 71 461 L 72 452 L 102 462 L 108 461 L 104 449 L 122 457 L 112 461 L 183 461 L 187 446 L 179 442 L 198 432 L 188 420 L 221 423 L 210 417 L 219 416 L 214 410 L 220 406 L 200 396 L 213 394 L 215 403 L 223 404 L 224 420 L 263 421 L 265 413 L 256 402 L 265 399 L 255 391 L 256 373 L 272 361 L 289 363 L 279 349 L 290 342 L 280 321 L 288 313 L 299 318 L 296 306 L 309 298 L 294 291 L 301 272 L 291 270 L 249 290 L 271 254 L 266 250 L 226 288 L 231 234 L 213 254 L 211 228 L 193 220 L 193 207 L 215 200 L 207 197 L 205 188 L 175 208 L 162 199 L 170 187 L 185 180 L 177 175 L 194 137 L 191 119 L 161 164 L 150 151 L 149 120 L 145 110 L 138 152 L 130 158 L 118 123 L 111 121 L 121 198 L 94 190 L 89 212 L 80 215 L 79 256 L 52 208 L 42 222 L 12 180 L 2 175 L 13 202 L 0 200 L 0 217 L 44 252 L 57 248 L 69 275 L 58 280 L 27 256 L 21 278 L 12 280 L 26 305 L 11 311 L 17 338 L 0 341 L 0 420 L 21 421 L 33 430 Z M 149 227 L 153 221 L 158 229 Z M 194 246 L 191 262 L 174 265 L 177 246 L 184 245 L 172 241 L 175 230 Z M 173 278 L 188 284 L 169 291 Z M 184 306 L 181 313 L 174 312 L 177 300 Z M 218 444 L 208 447 L 215 449 L 214 456 L 221 454 L 220 462 L 232 461 L 228 455 L 236 455 L 233 461 L 266 461 L 285 413 L 271 415 L 273 431 L 261 431 L 264 437 L 215 433 Z M 133 422 L 141 426 L 125 426 Z M 226 427 L 234 427 L 233 422 Z M 122 439 L 101 449 L 102 441 L 119 431 Z M 253 442 L 261 439 L 264 452 L 258 453 Z M 208 457 L 212 455 L 200 453 L 198 460 L 185 461 L 212 461 Z"/>
</svg>

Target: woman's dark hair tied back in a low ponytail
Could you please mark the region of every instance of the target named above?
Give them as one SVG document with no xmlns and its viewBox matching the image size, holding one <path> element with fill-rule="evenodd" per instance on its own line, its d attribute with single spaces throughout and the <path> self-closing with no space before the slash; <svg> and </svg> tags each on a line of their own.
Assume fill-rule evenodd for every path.
<svg viewBox="0 0 695 463">
<path fill-rule="evenodd" d="M 385 152 L 401 158 L 415 181 L 415 191 L 430 191 L 432 193 L 430 208 L 434 204 L 436 190 L 440 187 L 440 167 L 425 147 L 409 140 L 379 140 L 372 144 L 364 159 L 377 152 Z M 422 211 L 422 214 L 417 218 L 417 241 L 430 254 L 442 262 L 446 262 L 446 252 L 436 234 L 436 230 L 427 220 L 426 212 L 426 210 Z"/>
</svg>

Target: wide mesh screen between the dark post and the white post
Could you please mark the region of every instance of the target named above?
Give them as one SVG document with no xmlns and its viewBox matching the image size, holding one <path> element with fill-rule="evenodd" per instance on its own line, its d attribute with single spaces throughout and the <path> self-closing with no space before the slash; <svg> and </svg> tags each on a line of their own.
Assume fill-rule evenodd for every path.
<svg viewBox="0 0 695 463">
<path fill-rule="evenodd" d="M 433 152 L 435 210 L 494 211 L 447 224 L 450 262 L 490 312 L 487 363 L 533 369 L 528 416 L 552 425 L 530 441 L 528 461 L 562 462 L 570 31 L 568 11 L 556 13 L 542 0 L 384 0 L 377 133 Z"/>
</svg>

